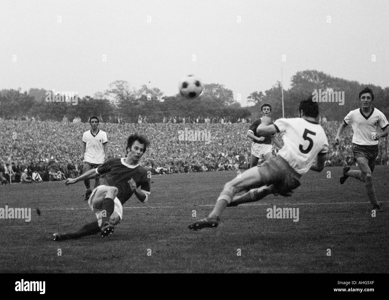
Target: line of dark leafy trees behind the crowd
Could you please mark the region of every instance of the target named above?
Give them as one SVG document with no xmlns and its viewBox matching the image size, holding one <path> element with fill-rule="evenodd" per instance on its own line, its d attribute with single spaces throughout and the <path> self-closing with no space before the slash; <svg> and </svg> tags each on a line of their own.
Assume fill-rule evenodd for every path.
<svg viewBox="0 0 389 300">
<path fill-rule="evenodd" d="M 374 106 L 385 115 L 389 114 L 389 87 L 368 85 L 374 92 Z M 328 120 L 342 120 L 350 111 L 359 106 L 358 94 L 366 87 L 356 81 L 331 77 L 316 70 L 297 72 L 291 78 L 291 87 L 284 89 L 285 117 L 298 116 L 301 99 L 312 95 L 314 91 L 344 92 L 344 103 L 319 103 L 320 113 Z M 263 103 L 272 105 L 274 119 L 282 117 L 280 82 L 262 91 L 252 92 L 247 100 L 254 106 L 242 107 L 234 99 L 233 91 L 222 84 L 205 84 L 203 94 L 195 99 L 186 99 L 180 94 L 165 96 L 157 87 L 142 85 L 140 89 L 131 88 L 124 80 L 116 80 L 105 92 L 96 92 L 93 96 L 72 101 L 47 102 L 45 89 L 3 89 L 0 91 L 0 117 L 17 119 L 25 116 L 40 120 L 60 121 L 66 115 L 69 120 L 80 117 L 87 122 L 92 115 L 102 116 L 104 121 L 120 118 L 135 123 L 139 115 L 146 116 L 148 122 L 162 122 L 163 117 L 228 117 L 231 120 L 260 117 L 259 107 Z M 54 97 L 53 97 L 54 99 Z M 53 100 L 54 101 L 54 100 Z"/>
</svg>

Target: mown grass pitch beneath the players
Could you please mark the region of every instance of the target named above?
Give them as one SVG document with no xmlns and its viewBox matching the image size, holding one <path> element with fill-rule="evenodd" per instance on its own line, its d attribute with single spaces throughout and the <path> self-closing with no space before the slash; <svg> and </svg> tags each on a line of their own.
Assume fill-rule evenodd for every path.
<svg viewBox="0 0 389 300">
<path fill-rule="evenodd" d="M 0 270 L 387 273 L 388 172 L 384 166 L 374 171 L 378 201 L 384 202 L 376 217 L 371 216 L 364 184 L 349 178 L 341 186 L 342 169 L 336 167 L 309 172 L 292 197 L 269 195 L 227 208 L 219 227 L 197 232 L 187 225 L 211 211 L 224 183 L 237 173 L 155 175 L 149 202 L 142 204 L 135 196 L 126 202 L 114 234 L 62 242 L 52 241 L 54 232 L 74 231 L 95 218 L 83 200 L 83 183 L 3 185 L 0 208 L 32 208 L 32 219 L 0 219 Z M 299 208 L 299 221 L 266 218 L 273 205 Z"/>
</svg>

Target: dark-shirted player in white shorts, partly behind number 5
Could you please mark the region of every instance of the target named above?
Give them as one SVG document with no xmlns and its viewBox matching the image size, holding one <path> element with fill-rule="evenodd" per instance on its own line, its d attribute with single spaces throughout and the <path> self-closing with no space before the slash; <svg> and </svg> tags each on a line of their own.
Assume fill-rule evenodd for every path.
<svg viewBox="0 0 389 300">
<path fill-rule="evenodd" d="M 273 157 L 272 150 L 272 140 L 279 147 L 282 148 L 282 145 L 274 138 L 275 134 L 267 134 L 261 136 L 257 134 L 256 129 L 261 124 L 263 117 L 270 117 L 272 114 L 272 106 L 268 103 L 263 103 L 261 105 L 262 118 L 255 120 L 251 124 L 249 131 L 247 131 L 247 137 L 253 140 L 251 145 L 251 157 L 250 157 L 250 167 L 255 167 L 258 164 L 258 160 L 261 158 L 263 160 L 268 160 L 270 157 Z"/>
</svg>

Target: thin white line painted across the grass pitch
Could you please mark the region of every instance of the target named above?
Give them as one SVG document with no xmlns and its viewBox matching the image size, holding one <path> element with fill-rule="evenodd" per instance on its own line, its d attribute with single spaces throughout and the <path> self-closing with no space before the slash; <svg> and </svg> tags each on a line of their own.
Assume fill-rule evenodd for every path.
<svg viewBox="0 0 389 300">
<path fill-rule="evenodd" d="M 387 201 L 386 201 L 387 202 Z M 383 203 L 386 203 L 383 202 Z M 342 204 L 367 204 L 370 202 L 322 202 L 322 203 L 279 203 L 278 205 L 342 205 Z M 213 207 L 215 204 L 202 204 L 202 205 L 185 205 L 185 206 L 124 206 L 124 209 L 148 209 L 148 208 L 195 208 L 195 207 Z M 274 203 L 255 203 L 255 204 L 240 204 L 240 206 L 270 206 L 275 205 Z M 89 208 L 40 208 L 44 210 L 89 210 Z"/>
</svg>

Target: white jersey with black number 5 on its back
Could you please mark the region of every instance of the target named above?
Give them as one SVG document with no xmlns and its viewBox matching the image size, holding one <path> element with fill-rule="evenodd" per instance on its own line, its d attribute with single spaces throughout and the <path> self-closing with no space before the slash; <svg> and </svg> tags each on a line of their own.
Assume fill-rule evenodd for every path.
<svg viewBox="0 0 389 300">
<path fill-rule="evenodd" d="M 328 140 L 324 129 L 317 122 L 303 118 L 278 119 L 274 122 L 282 136 L 284 147 L 277 153 L 299 174 L 308 172 L 319 153 L 328 152 Z"/>
</svg>

